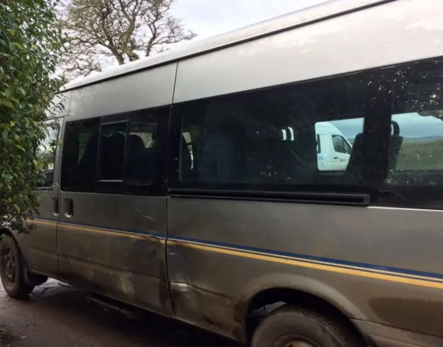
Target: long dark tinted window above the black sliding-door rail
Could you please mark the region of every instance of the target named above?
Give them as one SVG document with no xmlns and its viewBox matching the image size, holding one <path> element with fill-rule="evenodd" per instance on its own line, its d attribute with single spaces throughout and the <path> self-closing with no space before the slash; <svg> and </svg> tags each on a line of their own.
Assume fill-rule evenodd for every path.
<svg viewBox="0 0 443 347">
<path fill-rule="evenodd" d="M 187 102 L 176 112 L 181 129 L 181 182 L 201 185 L 354 184 L 320 172 L 317 122 L 359 119 L 347 136 L 363 131 L 368 80 L 338 77 Z M 189 137 L 190 141 L 186 140 Z M 343 151 L 350 152 L 349 144 Z M 192 148 L 192 157 L 190 149 Z M 186 153 L 183 149 L 187 149 Z M 189 159 L 184 158 L 186 154 Z M 364 163 L 361 163 L 361 167 Z M 185 167 L 185 169 L 183 169 Z"/>
</svg>

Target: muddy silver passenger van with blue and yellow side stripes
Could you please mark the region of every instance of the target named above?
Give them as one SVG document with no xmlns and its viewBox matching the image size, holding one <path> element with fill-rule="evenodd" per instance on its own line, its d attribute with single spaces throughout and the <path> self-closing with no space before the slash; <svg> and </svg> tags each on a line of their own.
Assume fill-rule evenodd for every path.
<svg viewBox="0 0 443 347">
<path fill-rule="evenodd" d="M 37 227 L 13 233 L 28 270 L 244 343 L 255 327 L 251 314 L 284 302 L 345 321 L 368 346 L 443 346 L 443 171 L 438 167 L 443 158 L 410 169 L 418 160 L 415 154 L 408 161 L 409 152 L 397 149 L 397 167 L 406 165 L 398 176 L 390 161 L 395 143 L 390 136 L 402 134 L 400 113 L 413 113 L 410 117 L 423 129 L 429 118 L 422 112 L 433 112 L 435 124 L 439 120 L 435 86 L 443 85 L 438 75 L 443 71 L 442 18 L 443 6 L 434 0 L 331 1 L 67 84 L 53 188 L 39 193 Z M 416 71 L 422 76 L 430 69 L 432 79 L 415 77 Z M 356 142 L 360 133 L 364 136 L 352 153 L 360 148 L 371 163 L 363 167 L 363 178 L 350 178 L 348 184 L 330 173 L 327 185 L 305 185 L 304 176 L 284 186 L 256 184 L 247 177 L 229 182 L 186 178 L 183 149 L 190 148 L 192 158 L 197 152 L 183 142 L 181 135 L 192 132 L 183 118 L 194 117 L 195 110 L 212 112 L 206 102 L 220 109 L 245 97 L 250 105 L 266 99 L 253 93 L 286 93 L 284 88 L 292 86 L 300 86 L 300 93 L 321 90 L 323 96 L 338 97 L 357 90 L 343 87 L 343 93 L 331 94 L 329 86 L 336 90 L 342 81 L 367 87 L 365 100 L 354 104 L 355 97 L 345 97 L 323 109 L 334 115 L 352 109 L 364 118 L 363 126 L 352 115 L 352 124 L 361 126 L 352 136 Z M 399 83 L 414 86 L 406 102 L 393 92 Z M 415 108 L 410 95 L 428 95 L 428 89 L 419 88 L 425 84 L 432 84 L 428 99 L 437 102 Z M 288 100 L 299 90 L 291 93 Z M 225 102 L 225 97 L 231 99 Z M 406 111 L 392 111 L 392 105 Z M 277 104 L 271 106 L 278 110 Z M 150 110 L 149 122 L 140 110 Z M 295 117 L 311 112 L 306 110 L 288 112 Z M 233 113 L 248 113 L 244 118 L 255 124 L 244 108 Z M 407 120 L 404 129 L 412 122 Z M 399 133 L 390 135 L 391 124 Z M 96 126 L 100 139 L 112 129 L 133 129 L 127 130 L 126 144 L 129 134 L 148 134 L 146 146 L 155 142 L 156 150 L 164 151 L 150 166 L 159 172 L 150 183 L 132 185 L 129 169 L 116 177 L 94 171 L 93 188 L 65 189 L 71 186 L 64 185 L 62 166 L 71 159 L 66 159 L 70 140 L 64 134 L 73 126 L 75 131 Z M 158 131 L 155 136 L 146 130 L 150 126 Z M 270 128 L 248 129 L 264 136 Z M 440 140 L 431 135 L 435 143 Z M 402 139 L 401 148 L 418 143 L 414 139 Z M 105 156 L 102 141 L 98 161 Z M 415 153 L 415 147 L 410 151 Z M 125 153 L 129 158 L 132 151 L 125 147 Z M 349 165 L 354 165 L 352 154 Z M 142 188 L 146 193 L 140 193 Z"/>
</svg>

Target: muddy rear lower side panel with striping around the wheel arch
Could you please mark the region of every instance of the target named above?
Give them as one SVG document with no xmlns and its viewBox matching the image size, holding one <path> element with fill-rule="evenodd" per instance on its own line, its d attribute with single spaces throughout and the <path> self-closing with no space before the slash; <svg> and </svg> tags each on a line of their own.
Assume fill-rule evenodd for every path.
<svg viewBox="0 0 443 347">
<path fill-rule="evenodd" d="M 242 305 L 293 279 L 352 319 L 443 337 L 441 223 L 439 211 L 170 198 L 177 317 L 235 336 Z"/>
</svg>

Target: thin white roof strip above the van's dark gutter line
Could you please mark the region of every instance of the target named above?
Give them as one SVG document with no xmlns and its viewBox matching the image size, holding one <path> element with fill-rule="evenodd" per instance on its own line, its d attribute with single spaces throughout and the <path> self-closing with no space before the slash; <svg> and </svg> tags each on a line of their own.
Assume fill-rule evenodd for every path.
<svg viewBox="0 0 443 347">
<path fill-rule="evenodd" d="M 349 12 L 392 1 L 397 0 L 329 0 L 317 6 L 311 6 L 303 10 L 291 12 L 287 15 L 253 24 L 252 26 L 246 26 L 238 30 L 227 32 L 226 34 L 211 37 L 209 39 L 190 41 L 167 53 L 145 57 L 136 60 L 135 62 L 109 68 L 107 71 L 88 77 L 79 77 L 78 79 L 74 79 L 65 84 L 62 87 L 62 91 L 81 88 L 82 86 L 87 86 L 89 84 L 96 84 L 107 79 L 136 73 L 137 71 L 143 71 L 148 68 L 154 68 L 155 66 L 178 62 L 179 60 L 209 53 L 213 50 L 242 44 L 246 41 L 290 30 L 298 26 L 305 26 L 316 21 L 329 19 L 331 17 L 344 15 Z"/>
</svg>

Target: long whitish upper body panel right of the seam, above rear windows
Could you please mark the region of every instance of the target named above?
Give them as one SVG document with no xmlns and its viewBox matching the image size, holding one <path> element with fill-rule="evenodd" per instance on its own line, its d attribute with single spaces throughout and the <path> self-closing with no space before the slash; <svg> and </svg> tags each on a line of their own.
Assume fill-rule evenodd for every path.
<svg viewBox="0 0 443 347">
<path fill-rule="evenodd" d="M 442 17 L 433 0 L 395 1 L 187 59 L 174 102 L 443 55 Z"/>
</svg>

